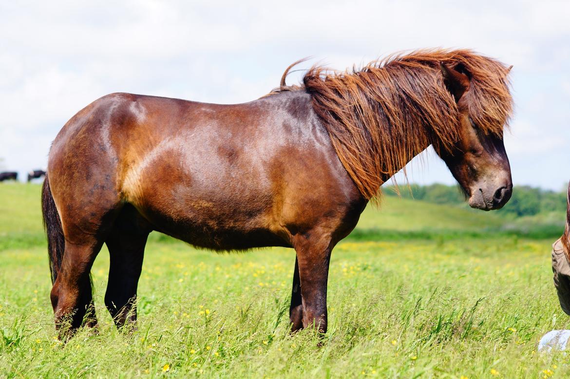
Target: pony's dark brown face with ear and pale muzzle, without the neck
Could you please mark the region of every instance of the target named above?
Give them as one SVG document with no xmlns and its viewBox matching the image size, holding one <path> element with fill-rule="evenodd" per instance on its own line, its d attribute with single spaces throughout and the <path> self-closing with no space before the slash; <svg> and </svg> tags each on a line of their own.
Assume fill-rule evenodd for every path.
<svg viewBox="0 0 570 379">
<path fill-rule="evenodd" d="M 500 209 L 512 193 L 511 168 L 503 144 L 503 125 L 510 109 L 496 102 L 484 104 L 481 93 L 477 93 L 480 88 L 473 85 L 473 76 L 462 64 L 440 66 L 443 83 L 457 102 L 459 139 L 445 147 L 435 145 L 435 150 L 461 185 L 471 207 Z M 504 79 L 501 81 L 504 83 Z"/>
</svg>

